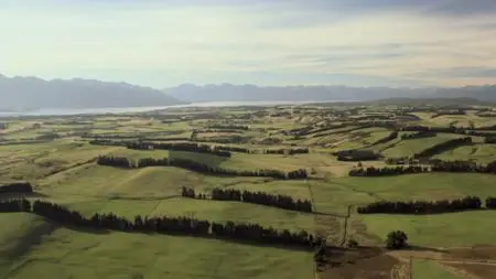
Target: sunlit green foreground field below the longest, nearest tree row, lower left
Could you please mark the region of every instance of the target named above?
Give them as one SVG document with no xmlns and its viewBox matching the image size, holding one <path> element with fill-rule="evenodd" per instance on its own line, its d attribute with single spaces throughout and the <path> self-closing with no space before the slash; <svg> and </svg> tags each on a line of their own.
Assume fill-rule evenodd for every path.
<svg viewBox="0 0 496 279">
<path fill-rule="evenodd" d="M 61 228 L 9 278 L 313 278 L 312 254 L 215 239 Z"/>
</svg>

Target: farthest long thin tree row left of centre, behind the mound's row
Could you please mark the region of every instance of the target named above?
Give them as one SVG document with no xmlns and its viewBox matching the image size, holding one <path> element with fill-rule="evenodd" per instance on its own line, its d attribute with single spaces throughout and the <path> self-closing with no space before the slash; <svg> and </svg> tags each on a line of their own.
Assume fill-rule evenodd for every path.
<svg viewBox="0 0 496 279">
<path fill-rule="evenodd" d="M 118 146 L 127 147 L 134 150 L 151 150 L 151 149 L 163 149 L 163 150 L 176 150 L 176 151 L 187 151 L 196 153 L 209 153 L 219 157 L 230 158 L 230 152 L 250 153 L 250 154 L 304 154 L 309 153 L 308 148 L 280 148 L 280 149 L 249 149 L 244 147 L 231 147 L 231 146 L 215 146 L 215 144 L 204 144 L 197 142 L 150 142 L 150 141 L 116 141 L 116 140 L 91 140 L 90 144 L 96 146 Z"/>
</svg>

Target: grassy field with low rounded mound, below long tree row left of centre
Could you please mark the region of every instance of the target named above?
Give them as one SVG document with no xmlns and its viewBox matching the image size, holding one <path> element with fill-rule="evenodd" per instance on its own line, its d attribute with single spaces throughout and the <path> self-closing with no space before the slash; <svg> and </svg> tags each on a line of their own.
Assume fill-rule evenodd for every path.
<svg viewBox="0 0 496 279">
<path fill-rule="evenodd" d="M 174 167 L 118 169 L 88 164 L 51 175 L 39 183 L 47 195 L 88 197 L 164 197 L 181 193 L 181 186 L 197 191 L 238 183 L 257 183 L 263 178 L 212 176 Z"/>
</svg>

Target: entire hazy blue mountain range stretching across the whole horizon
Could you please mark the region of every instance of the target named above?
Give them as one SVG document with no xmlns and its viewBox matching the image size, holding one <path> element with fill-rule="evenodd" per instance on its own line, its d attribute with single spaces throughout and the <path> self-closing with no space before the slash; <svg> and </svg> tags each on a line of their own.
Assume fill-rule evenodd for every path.
<svg viewBox="0 0 496 279">
<path fill-rule="evenodd" d="M 0 75 L 0 110 L 171 106 L 203 101 L 355 101 L 386 98 L 471 98 L 496 101 L 496 85 L 459 88 L 257 86 L 184 84 L 162 90 L 95 79 Z"/>
</svg>

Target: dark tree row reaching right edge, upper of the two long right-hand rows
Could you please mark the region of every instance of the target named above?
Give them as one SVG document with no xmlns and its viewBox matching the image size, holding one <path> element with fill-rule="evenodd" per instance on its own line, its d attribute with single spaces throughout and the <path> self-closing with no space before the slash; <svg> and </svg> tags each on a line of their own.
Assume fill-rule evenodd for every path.
<svg viewBox="0 0 496 279">
<path fill-rule="evenodd" d="M 388 176 L 424 172 L 473 172 L 496 174 L 496 161 L 488 164 L 477 164 L 472 161 L 432 160 L 430 167 L 398 165 L 385 168 L 357 168 L 349 171 L 349 176 Z"/>
</svg>

